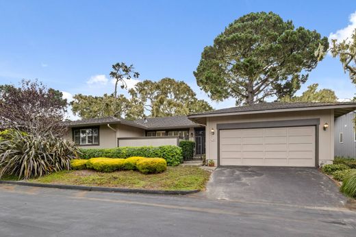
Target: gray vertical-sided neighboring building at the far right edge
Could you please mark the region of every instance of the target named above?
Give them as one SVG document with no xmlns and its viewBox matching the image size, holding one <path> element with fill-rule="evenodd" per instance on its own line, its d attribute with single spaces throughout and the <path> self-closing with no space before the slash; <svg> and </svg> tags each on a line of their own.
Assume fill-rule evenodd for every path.
<svg viewBox="0 0 356 237">
<path fill-rule="evenodd" d="M 335 118 L 335 156 L 356 158 L 355 114 Z"/>
</svg>

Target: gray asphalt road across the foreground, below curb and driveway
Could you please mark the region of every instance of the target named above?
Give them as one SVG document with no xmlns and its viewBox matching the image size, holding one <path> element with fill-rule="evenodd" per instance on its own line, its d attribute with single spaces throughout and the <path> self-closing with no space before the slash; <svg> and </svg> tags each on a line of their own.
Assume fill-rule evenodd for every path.
<svg viewBox="0 0 356 237">
<path fill-rule="evenodd" d="M 355 236 L 347 208 L 0 185 L 0 236 Z"/>
</svg>

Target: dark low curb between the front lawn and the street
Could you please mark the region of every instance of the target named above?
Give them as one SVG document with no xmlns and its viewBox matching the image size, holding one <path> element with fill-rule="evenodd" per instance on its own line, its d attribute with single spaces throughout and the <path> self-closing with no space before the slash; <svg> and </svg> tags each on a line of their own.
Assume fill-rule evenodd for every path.
<svg viewBox="0 0 356 237">
<path fill-rule="evenodd" d="M 99 191 L 99 192 L 132 192 L 132 193 L 145 193 L 155 195 L 188 195 L 191 193 L 199 192 L 199 190 L 146 190 L 146 189 L 131 189 L 131 188 L 109 188 L 109 187 L 95 187 L 95 186 L 77 186 L 77 185 L 64 185 L 64 184 L 40 184 L 21 181 L 7 181 L 0 180 L 0 184 L 14 184 L 20 186 L 31 186 L 41 188 L 61 188 L 71 190 L 85 190 L 85 191 Z"/>
</svg>

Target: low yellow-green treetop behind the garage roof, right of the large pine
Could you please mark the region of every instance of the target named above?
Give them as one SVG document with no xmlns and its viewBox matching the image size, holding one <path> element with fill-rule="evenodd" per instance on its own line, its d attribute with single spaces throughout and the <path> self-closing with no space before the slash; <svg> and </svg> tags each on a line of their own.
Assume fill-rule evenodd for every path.
<svg viewBox="0 0 356 237">
<path fill-rule="evenodd" d="M 280 99 L 281 102 L 336 102 L 335 92 L 330 89 L 318 90 L 319 84 L 312 84 L 308 86 L 308 89 L 303 92 L 300 97 L 286 96 Z M 317 91 L 318 90 L 318 91 Z"/>
</svg>

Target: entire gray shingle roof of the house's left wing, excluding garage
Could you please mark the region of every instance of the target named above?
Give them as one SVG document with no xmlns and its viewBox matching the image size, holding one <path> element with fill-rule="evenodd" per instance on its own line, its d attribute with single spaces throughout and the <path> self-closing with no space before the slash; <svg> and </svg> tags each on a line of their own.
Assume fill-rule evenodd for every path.
<svg viewBox="0 0 356 237">
<path fill-rule="evenodd" d="M 127 121 L 123 118 L 103 117 L 103 118 L 88 118 L 78 121 L 64 121 L 63 124 L 68 127 L 77 127 L 82 125 L 101 125 L 107 123 L 122 123 L 132 127 L 140 127 L 142 129 L 174 129 L 183 127 L 200 127 L 200 125 L 190 121 L 187 116 L 171 116 L 164 118 L 147 118 L 147 123 L 144 119 L 136 121 Z"/>
</svg>

